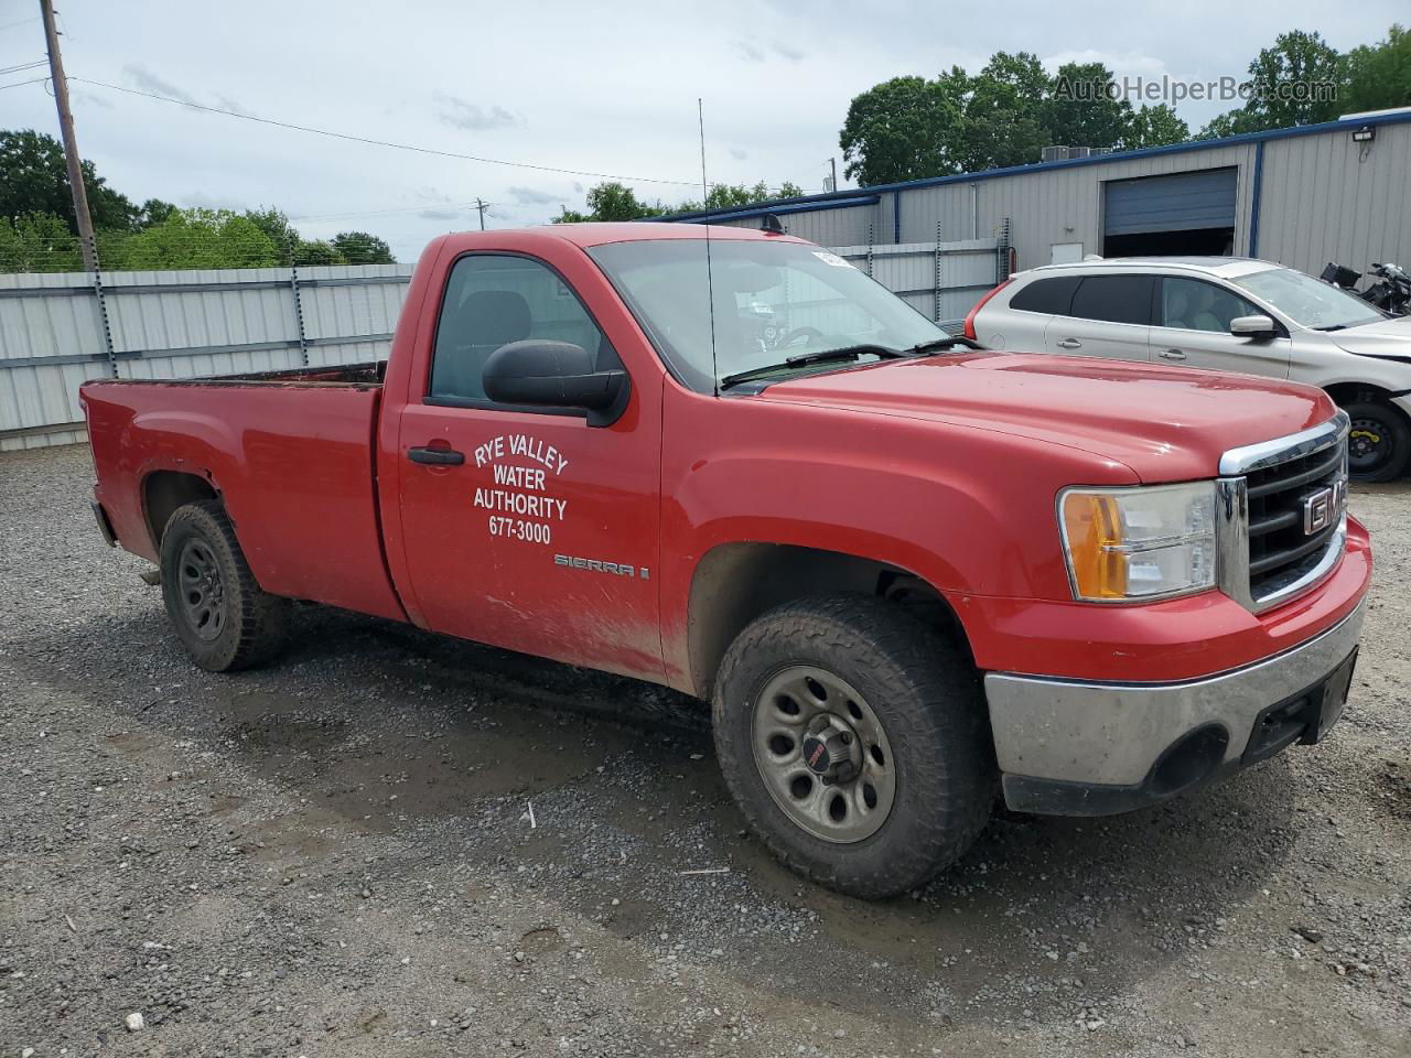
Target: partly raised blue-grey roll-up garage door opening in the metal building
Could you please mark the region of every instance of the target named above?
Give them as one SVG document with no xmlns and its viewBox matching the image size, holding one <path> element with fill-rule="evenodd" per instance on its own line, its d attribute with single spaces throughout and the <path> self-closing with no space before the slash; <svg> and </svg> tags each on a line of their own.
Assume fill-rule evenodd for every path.
<svg viewBox="0 0 1411 1058">
<path fill-rule="evenodd" d="M 1103 257 L 1235 253 L 1239 169 L 1201 169 L 1103 185 Z"/>
</svg>

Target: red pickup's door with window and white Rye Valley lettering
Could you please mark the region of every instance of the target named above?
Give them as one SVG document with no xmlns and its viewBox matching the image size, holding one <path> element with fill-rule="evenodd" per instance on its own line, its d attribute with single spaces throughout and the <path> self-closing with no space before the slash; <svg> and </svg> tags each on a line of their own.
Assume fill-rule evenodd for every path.
<svg viewBox="0 0 1411 1058">
<path fill-rule="evenodd" d="M 509 341 L 571 341 L 597 351 L 598 370 L 622 367 L 579 293 L 542 260 L 464 254 L 439 312 L 430 371 L 412 379 L 398 434 L 405 563 L 423 624 L 659 676 L 660 416 L 643 415 L 635 391 L 602 427 L 580 412 L 485 396 L 485 358 Z"/>
</svg>

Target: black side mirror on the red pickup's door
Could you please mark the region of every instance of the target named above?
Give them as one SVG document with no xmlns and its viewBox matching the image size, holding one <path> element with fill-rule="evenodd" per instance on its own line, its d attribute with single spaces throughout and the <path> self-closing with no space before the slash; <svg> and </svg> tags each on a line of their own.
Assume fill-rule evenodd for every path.
<svg viewBox="0 0 1411 1058">
<path fill-rule="evenodd" d="M 593 354 L 570 341 L 529 339 L 485 360 L 485 396 L 498 403 L 581 408 L 591 426 L 610 426 L 626 408 L 626 371 L 595 371 Z"/>
</svg>

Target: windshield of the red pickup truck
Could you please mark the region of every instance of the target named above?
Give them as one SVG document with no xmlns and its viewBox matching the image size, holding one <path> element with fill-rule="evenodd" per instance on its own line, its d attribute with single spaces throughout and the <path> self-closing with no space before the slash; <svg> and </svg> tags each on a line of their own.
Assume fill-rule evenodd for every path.
<svg viewBox="0 0 1411 1058">
<path fill-rule="evenodd" d="M 855 346 L 907 350 L 944 330 L 837 254 L 801 243 L 655 238 L 588 250 L 676 374 L 700 392 L 779 364 L 787 378 L 835 370 L 816 354 Z M 714 320 L 711 320 L 714 308 Z M 714 337 L 714 355 L 711 354 Z M 855 361 L 873 363 L 859 351 Z"/>
</svg>

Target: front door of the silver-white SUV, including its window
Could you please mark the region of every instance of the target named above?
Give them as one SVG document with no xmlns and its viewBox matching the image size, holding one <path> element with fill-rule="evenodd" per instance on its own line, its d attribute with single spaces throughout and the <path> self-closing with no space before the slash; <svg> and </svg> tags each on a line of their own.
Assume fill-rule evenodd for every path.
<svg viewBox="0 0 1411 1058">
<path fill-rule="evenodd" d="M 1243 371 L 1288 378 L 1288 337 L 1252 339 L 1230 334 L 1230 320 L 1267 316 L 1233 291 L 1204 279 L 1158 279 L 1151 351 L 1157 360 L 1182 367 Z"/>
</svg>

